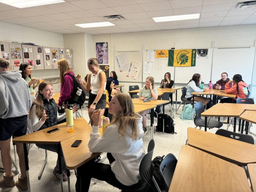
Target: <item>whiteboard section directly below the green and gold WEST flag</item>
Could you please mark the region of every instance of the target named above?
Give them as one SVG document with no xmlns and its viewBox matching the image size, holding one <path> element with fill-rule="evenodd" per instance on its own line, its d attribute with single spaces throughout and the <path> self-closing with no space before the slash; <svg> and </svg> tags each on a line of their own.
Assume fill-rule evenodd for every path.
<svg viewBox="0 0 256 192">
<path fill-rule="evenodd" d="M 174 68 L 174 67 L 173 67 Z M 207 58 L 196 58 L 195 67 L 175 67 L 175 83 L 188 83 L 195 73 L 201 75 L 202 81 L 209 83 L 212 68 L 212 48 L 208 49 Z"/>
</svg>

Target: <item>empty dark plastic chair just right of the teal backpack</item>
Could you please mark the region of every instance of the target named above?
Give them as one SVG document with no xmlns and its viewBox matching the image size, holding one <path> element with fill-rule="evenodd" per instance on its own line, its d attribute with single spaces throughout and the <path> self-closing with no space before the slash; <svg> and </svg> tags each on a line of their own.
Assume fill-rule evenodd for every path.
<svg viewBox="0 0 256 192">
<path fill-rule="evenodd" d="M 194 118 L 194 123 L 195 123 L 195 128 L 199 127 L 200 129 L 205 126 L 205 120 L 201 118 L 201 113 L 204 112 L 204 105 L 202 102 L 197 102 L 194 104 L 195 108 L 195 118 Z M 222 122 L 215 121 L 209 118 L 207 120 L 207 128 L 221 128 L 223 125 Z"/>
</svg>

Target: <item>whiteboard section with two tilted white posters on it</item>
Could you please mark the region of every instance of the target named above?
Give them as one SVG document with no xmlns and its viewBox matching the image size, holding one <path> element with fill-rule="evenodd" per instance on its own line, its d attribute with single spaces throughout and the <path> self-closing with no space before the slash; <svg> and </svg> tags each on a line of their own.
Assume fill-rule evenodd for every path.
<svg viewBox="0 0 256 192">
<path fill-rule="evenodd" d="M 116 60 L 116 57 L 119 55 L 125 55 L 125 57 L 128 59 L 128 64 L 130 64 L 131 61 L 135 61 L 137 63 L 140 63 L 140 72 L 137 79 L 132 79 L 130 77 L 127 77 L 128 70 L 120 71 L 118 67 L 118 63 Z M 118 81 L 123 82 L 142 82 L 142 73 L 143 73 L 143 51 L 124 51 L 124 52 L 114 52 L 114 71 L 116 72 L 116 75 L 118 77 Z"/>
</svg>

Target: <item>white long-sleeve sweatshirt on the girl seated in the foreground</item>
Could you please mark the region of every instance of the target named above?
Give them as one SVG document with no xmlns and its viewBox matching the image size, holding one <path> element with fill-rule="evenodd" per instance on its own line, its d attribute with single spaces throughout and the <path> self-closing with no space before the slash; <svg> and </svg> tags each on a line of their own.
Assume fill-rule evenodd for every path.
<svg viewBox="0 0 256 192">
<path fill-rule="evenodd" d="M 131 138 L 131 128 L 128 126 L 124 137 L 118 133 L 119 125 L 109 125 L 105 133 L 100 137 L 99 127 L 93 126 L 88 143 L 91 152 L 111 153 L 115 161 L 111 164 L 111 170 L 120 183 L 131 186 L 140 180 L 140 162 L 145 155 L 143 147 L 142 116 L 136 114 L 140 136 L 137 140 Z"/>
</svg>

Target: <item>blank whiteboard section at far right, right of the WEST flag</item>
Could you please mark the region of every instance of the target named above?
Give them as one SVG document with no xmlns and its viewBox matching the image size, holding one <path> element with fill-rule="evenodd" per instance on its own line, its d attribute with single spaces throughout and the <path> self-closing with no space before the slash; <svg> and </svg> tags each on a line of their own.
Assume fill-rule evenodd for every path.
<svg viewBox="0 0 256 192">
<path fill-rule="evenodd" d="M 221 79 L 221 73 L 227 72 L 231 79 L 240 74 L 243 81 L 251 84 L 253 75 L 255 47 L 214 48 L 212 60 L 212 82 Z"/>
</svg>

